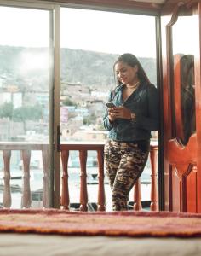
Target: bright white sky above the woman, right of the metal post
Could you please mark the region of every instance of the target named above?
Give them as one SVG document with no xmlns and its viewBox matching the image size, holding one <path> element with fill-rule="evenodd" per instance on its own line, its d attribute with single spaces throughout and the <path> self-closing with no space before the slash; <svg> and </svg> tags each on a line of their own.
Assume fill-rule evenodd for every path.
<svg viewBox="0 0 201 256">
<path fill-rule="evenodd" d="M 79 17 L 79 20 L 78 20 Z M 155 55 L 154 17 L 61 9 L 61 46 L 106 53 Z M 70 33 L 72 37 L 67 37 Z"/>
</svg>

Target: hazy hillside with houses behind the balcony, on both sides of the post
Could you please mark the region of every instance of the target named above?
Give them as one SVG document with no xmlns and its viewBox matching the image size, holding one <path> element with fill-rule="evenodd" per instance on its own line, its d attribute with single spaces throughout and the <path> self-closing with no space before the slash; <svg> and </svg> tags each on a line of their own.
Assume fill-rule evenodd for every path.
<svg viewBox="0 0 201 256">
<path fill-rule="evenodd" d="M 47 48 L 0 46 L 0 140 L 49 141 L 52 90 Z M 60 51 L 61 140 L 103 140 L 102 115 L 114 86 L 118 55 L 82 49 Z M 156 84 L 156 60 L 139 58 Z"/>
</svg>

